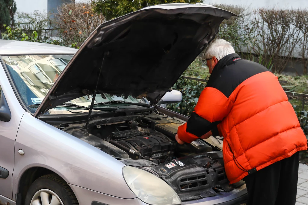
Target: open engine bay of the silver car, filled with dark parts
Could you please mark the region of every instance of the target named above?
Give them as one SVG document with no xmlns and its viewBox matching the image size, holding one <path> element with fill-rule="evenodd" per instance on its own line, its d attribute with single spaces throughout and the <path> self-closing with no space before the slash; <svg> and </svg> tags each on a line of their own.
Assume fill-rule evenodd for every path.
<svg viewBox="0 0 308 205">
<path fill-rule="evenodd" d="M 63 123 L 59 129 L 122 163 L 144 169 L 167 182 L 182 201 L 231 191 L 222 152 L 205 140 L 180 145 L 177 128 L 185 122 L 152 113 Z"/>
</svg>

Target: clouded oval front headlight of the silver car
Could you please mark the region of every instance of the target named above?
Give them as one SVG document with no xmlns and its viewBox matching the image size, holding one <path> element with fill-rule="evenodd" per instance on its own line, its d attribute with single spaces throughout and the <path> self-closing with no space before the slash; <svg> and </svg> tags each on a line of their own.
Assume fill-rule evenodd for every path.
<svg viewBox="0 0 308 205">
<path fill-rule="evenodd" d="M 176 192 L 162 179 L 136 167 L 123 167 L 128 187 L 143 202 L 151 205 L 181 204 Z"/>
</svg>

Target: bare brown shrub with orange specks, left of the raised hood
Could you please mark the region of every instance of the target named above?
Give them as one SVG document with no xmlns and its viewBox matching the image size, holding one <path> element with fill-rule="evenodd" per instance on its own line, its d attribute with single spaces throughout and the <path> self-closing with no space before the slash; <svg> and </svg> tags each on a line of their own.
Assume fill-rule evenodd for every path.
<svg viewBox="0 0 308 205">
<path fill-rule="evenodd" d="M 58 14 L 54 14 L 55 24 L 60 28 L 63 41 L 67 44 L 74 42 L 80 46 L 101 23 L 105 22 L 103 15 L 93 13 L 91 2 L 63 3 L 57 10 Z"/>
</svg>

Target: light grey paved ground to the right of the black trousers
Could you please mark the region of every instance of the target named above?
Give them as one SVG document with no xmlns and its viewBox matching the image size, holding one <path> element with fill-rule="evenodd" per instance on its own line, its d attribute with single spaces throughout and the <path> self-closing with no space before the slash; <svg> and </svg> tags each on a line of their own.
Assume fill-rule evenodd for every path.
<svg viewBox="0 0 308 205">
<path fill-rule="evenodd" d="M 308 205 L 308 165 L 299 164 L 296 205 Z"/>
</svg>

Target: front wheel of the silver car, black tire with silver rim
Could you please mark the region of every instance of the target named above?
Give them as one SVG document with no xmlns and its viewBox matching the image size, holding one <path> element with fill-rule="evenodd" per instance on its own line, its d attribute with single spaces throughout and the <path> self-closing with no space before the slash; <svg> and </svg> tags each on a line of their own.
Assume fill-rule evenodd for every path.
<svg viewBox="0 0 308 205">
<path fill-rule="evenodd" d="M 61 205 L 79 205 L 71 187 L 56 174 L 44 175 L 36 179 L 29 187 L 25 199 L 25 205 L 45 205 L 51 202 Z"/>
</svg>

